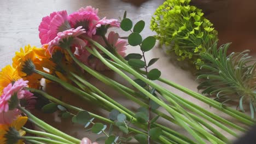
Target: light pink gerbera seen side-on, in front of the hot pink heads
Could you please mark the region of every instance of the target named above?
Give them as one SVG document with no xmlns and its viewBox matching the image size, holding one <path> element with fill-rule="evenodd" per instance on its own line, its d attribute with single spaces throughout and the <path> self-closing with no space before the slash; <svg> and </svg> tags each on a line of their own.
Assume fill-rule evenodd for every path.
<svg viewBox="0 0 256 144">
<path fill-rule="evenodd" d="M 57 37 L 49 42 L 48 51 L 50 55 L 53 55 L 55 46 L 59 46 L 61 44 L 64 44 L 65 46 L 71 46 L 75 44 L 84 47 L 86 45 L 86 41 L 78 38 L 79 35 L 86 33 L 84 30 L 85 29 L 82 29 L 82 26 L 79 26 L 77 28 L 71 28 L 66 31 L 57 33 Z"/>
</svg>

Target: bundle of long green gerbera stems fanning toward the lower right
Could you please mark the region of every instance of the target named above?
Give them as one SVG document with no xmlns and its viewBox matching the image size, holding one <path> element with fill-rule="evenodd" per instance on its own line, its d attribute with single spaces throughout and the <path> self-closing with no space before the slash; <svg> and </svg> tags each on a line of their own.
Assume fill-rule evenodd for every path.
<svg viewBox="0 0 256 144">
<path fill-rule="evenodd" d="M 71 56 L 73 61 L 83 70 L 87 71 L 92 76 L 96 77 L 96 79 L 102 81 L 106 85 L 113 87 L 116 91 L 124 95 L 126 98 L 132 100 L 133 102 L 137 103 L 142 107 L 146 107 L 149 109 L 149 113 L 153 112 L 161 118 L 166 119 L 167 121 L 179 125 L 179 127 L 184 128 L 188 131 L 188 133 L 193 137 L 193 139 L 188 138 L 182 134 L 177 133 L 176 131 L 172 130 L 171 128 L 166 127 L 163 124 L 154 122 L 150 123 L 141 123 L 136 118 L 136 113 L 127 109 L 127 107 L 119 104 L 117 101 L 113 100 L 112 98 L 108 97 L 107 94 L 103 93 L 100 89 L 92 85 L 88 82 L 83 74 L 75 74 L 71 71 L 65 70 L 66 75 L 69 80 L 75 83 L 76 86 L 71 85 L 68 82 L 65 82 L 59 79 L 56 76 L 46 74 L 43 71 L 39 71 L 37 69 L 33 69 L 34 73 L 40 74 L 45 77 L 45 79 L 49 79 L 51 81 L 59 83 L 62 87 L 68 89 L 74 94 L 77 94 L 79 97 L 86 101 L 91 101 L 92 103 L 98 104 L 101 106 L 102 109 L 107 111 L 116 109 L 121 113 L 124 113 L 127 119 L 133 124 L 133 127 L 130 125 L 127 127 L 130 131 L 133 131 L 136 134 L 142 135 L 149 135 L 148 131 L 150 128 L 161 128 L 162 134 L 158 137 L 158 140 L 161 143 L 206 143 L 206 141 L 210 141 L 211 143 L 229 143 L 228 138 L 219 132 L 218 129 L 214 128 L 218 127 L 227 133 L 231 134 L 232 136 L 237 137 L 237 131 L 245 132 L 247 130 L 247 126 L 251 126 L 254 124 L 253 119 L 251 117 L 245 115 L 244 113 L 238 112 L 233 110 L 229 107 L 222 106 L 217 101 L 214 101 L 210 98 L 207 98 L 199 93 L 193 92 L 185 87 L 177 85 L 169 80 L 159 77 L 159 81 L 165 83 L 169 86 L 179 89 L 180 91 L 189 94 L 190 96 L 201 100 L 202 102 L 222 111 L 223 113 L 228 114 L 231 117 L 234 117 L 239 121 L 241 124 L 246 125 L 245 127 L 241 127 L 235 123 L 232 123 L 225 118 L 222 118 L 210 111 L 203 109 L 202 107 L 188 101 L 177 94 L 174 94 L 168 89 L 156 84 L 155 82 L 147 79 L 145 76 L 146 71 L 142 71 L 139 69 L 132 68 L 125 59 L 117 54 L 117 52 L 109 52 L 105 49 L 102 45 L 98 44 L 96 41 L 89 39 L 91 44 L 95 47 L 100 49 L 104 52 L 105 55 L 113 59 L 110 61 L 107 58 L 104 58 L 94 47 L 86 48 L 92 55 L 99 58 L 108 68 L 115 71 L 121 77 L 123 77 L 127 82 L 129 82 L 132 86 L 134 86 L 138 91 L 135 91 L 131 88 L 128 88 L 124 85 L 121 85 L 117 81 L 114 81 L 95 70 L 92 70 L 82 62 L 80 62 L 74 54 L 71 52 L 69 47 L 62 47 L 62 49 L 66 50 L 67 53 Z M 114 55 L 113 55 L 114 53 Z M 159 97 L 155 97 L 152 92 L 147 91 L 147 89 L 138 85 L 135 81 L 133 81 L 127 74 L 123 71 L 135 76 L 137 79 L 140 79 L 147 83 L 147 85 L 153 89 L 154 92 L 158 93 Z M 37 89 L 28 88 L 32 92 L 40 93 L 45 98 L 53 101 L 53 103 L 63 105 L 68 109 L 73 111 L 79 112 L 82 109 L 78 107 L 71 106 L 69 104 L 63 103 L 62 101 L 51 97 L 49 94 L 46 94 L 42 91 Z M 156 104 L 163 107 L 168 113 L 163 113 L 156 109 L 150 109 L 150 105 L 146 103 L 148 99 L 153 100 Z M 167 101 L 167 103 L 165 102 Z M 91 117 L 97 118 L 103 122 L 108 124 L 115 123 L 110 121 L 107 118 L 98 116 L 94 113 L 90 113 Z M 118 125 L 116 125 L 118 126 Z M 150 141 L 150 140 L 149 140 Z"/>
</svg>

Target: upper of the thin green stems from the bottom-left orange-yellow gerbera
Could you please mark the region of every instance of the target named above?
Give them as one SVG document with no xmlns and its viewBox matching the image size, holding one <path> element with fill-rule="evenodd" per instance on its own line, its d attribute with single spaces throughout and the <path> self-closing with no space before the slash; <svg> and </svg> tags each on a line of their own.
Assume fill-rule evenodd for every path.
<svg viewBox="0 0 256 144">
<path fill-rule="evenodd" d="M 30 134 L 34 134 L 34 135 L 38 135 L 38 136 L 50 137 L 50 138 L 55 139 L 55 140 L 60 141 L 60 142 L 66 142 L 66 143 L 70 143 L 70 144 L 75 144 L 74 142 L 71 142 L 71 141 L 68 141 L 66 139 L 63 139 L 60 136 L 49 134 L 49 133 L 45 133 L 43 131 L 31 130 L 31 129 L 27 129 L 25 127 L 22 127 L 22 130 L 24 130 L 24 131 L 26 131 L 27 133 L 30 133 Z"/>
</svg>

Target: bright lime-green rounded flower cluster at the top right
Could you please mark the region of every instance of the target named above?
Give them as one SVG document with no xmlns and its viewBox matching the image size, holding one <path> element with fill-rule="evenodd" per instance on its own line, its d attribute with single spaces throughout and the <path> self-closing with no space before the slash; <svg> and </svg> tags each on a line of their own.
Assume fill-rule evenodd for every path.
<svg viewBox="0 0 256 144">
<path fill-rule="evenodd" d="M 189 5 L 190 1 L 165 1 L 156 9 L 150 28 L 158 34 L 160 44 L 166 45 L 167 53 L 174 51 L 178 61 L 195 64 L 202 62 L 199 54 L 213 45 L 218 32 L 201 9 Z"/>
</svg>

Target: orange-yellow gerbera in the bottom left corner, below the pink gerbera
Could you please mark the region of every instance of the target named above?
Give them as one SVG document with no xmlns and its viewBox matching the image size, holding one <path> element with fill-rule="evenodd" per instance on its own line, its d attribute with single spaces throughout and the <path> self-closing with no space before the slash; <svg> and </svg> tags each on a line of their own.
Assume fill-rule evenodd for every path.
<svg viewBox="0 0 256 144">
<path fill-rule="evenodd" d="M 27 117 L 18 117 L 15 121 L 13 121 L 13 123 L 11 124 L 2 124 L 0 125 L 0 143 L 1 144 L 5 144 L 8 141 L 8 133 L 10 133 L 10 129 L 13 128 L 16 131 L 19 132 L 20 136 L 24 136 L 26 134 L 26 132 L 24 130 L 21 129 L 21 127 L 23 127 L 26 122 L 27 122 Z M 15 141 L 15 140 L 12 140 Z M 16 142 L 17 144 L 22 144 L 24 143 L 23 140 L 17 140 L 18 142 Z M 14 143 L 14 144 L 16 144 Z"/>
</svg>

